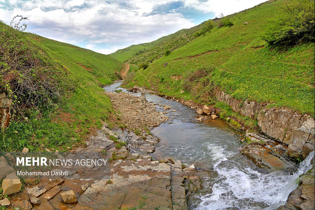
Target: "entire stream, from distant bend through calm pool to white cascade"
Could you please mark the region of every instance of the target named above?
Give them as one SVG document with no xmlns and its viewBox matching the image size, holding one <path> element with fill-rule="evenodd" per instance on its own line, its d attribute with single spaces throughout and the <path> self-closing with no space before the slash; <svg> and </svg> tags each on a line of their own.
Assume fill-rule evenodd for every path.
<svg viewBox="0 0 315 210">
<path fill-rule="evenodd" d="M 120 85 L 121 82 L 116 82 L 104 89 L 145 96 L 148 102 L 172 107 L 171 112 L 166 114 L 170 120 L 151 131 L 161 140 L 153 156 L 157 159 L 172 156 L 182 163 L 195 164 L 198 168 L 213 168 L 217 172 L 217 178 L 211 180 L 215 183 L 212 192 L 204 189 L 209 190 L 209 193 L 200 195 L 190 209 L 277 209 L 297 187 L 296 179 L 312 167 L 314 151 L 300 163 L 296 172 L 267 173 L 239 152 L 243 135 L 223 120 L 197 121 L 196 111 L 179 102 L 154 94 L 129 92 Z M 176 111 L 173 112 L 173 109 Z M 157 106 L 157 110 L 162 111 L 163 107 Z M 173 116 L 175 118 L 171 118 Z"/>
</svg>

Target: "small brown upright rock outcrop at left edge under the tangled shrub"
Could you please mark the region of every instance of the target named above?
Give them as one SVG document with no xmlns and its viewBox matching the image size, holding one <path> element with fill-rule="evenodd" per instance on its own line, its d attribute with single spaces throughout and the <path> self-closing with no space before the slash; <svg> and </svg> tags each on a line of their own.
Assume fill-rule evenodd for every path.
<svg viewBox="0 0 315 210">
<path fill-rule="evenodd" d="M 5 96 L 5 93 L 0 93 L 0 126 L 6 128 L 11 119 L 12 100 Z"/>
</svg>

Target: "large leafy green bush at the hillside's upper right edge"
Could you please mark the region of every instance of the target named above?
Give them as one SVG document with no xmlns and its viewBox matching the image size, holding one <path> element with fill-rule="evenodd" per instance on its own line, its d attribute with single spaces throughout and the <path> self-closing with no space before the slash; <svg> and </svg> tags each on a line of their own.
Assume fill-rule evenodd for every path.
<svg viewBox="0 0 315 210">
<path fill-rule="evenodd" d="M 282 8 L 286 16 L 274 20 L 262 35 L 262 39 L 271 45 L 295 45 L 315 40 L 314 1 L 285 0 Z"/>
</svg>

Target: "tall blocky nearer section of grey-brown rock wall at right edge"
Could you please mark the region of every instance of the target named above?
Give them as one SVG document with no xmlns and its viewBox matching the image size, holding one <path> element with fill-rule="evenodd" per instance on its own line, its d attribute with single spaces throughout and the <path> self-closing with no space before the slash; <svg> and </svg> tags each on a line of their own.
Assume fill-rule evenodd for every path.
<svg viewBox="0 0 315 210">
<path fill-rule="evenodd" d="M 314 118 L 289 109 L 263 109 L 258 114 L 258 125 L 269 137 L 289 145 L 288 155 L 305 158 L 314 150 Z"/>
</svg>

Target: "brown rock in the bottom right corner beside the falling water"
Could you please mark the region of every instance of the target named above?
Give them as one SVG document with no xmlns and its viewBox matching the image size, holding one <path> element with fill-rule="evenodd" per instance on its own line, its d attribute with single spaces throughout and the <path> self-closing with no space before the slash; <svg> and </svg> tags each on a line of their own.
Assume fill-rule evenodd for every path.
<svg viewBox="0 0 315 210">
<path fill-rule="evenodd" d="M 299 186 L 293 190 L 288 197 L 287 203 L 280 206 L 278 210 L 292 209 L 292 210 L 313 210 L 314 201 L 314 168 L 301 178 Z"/>
</svg>

